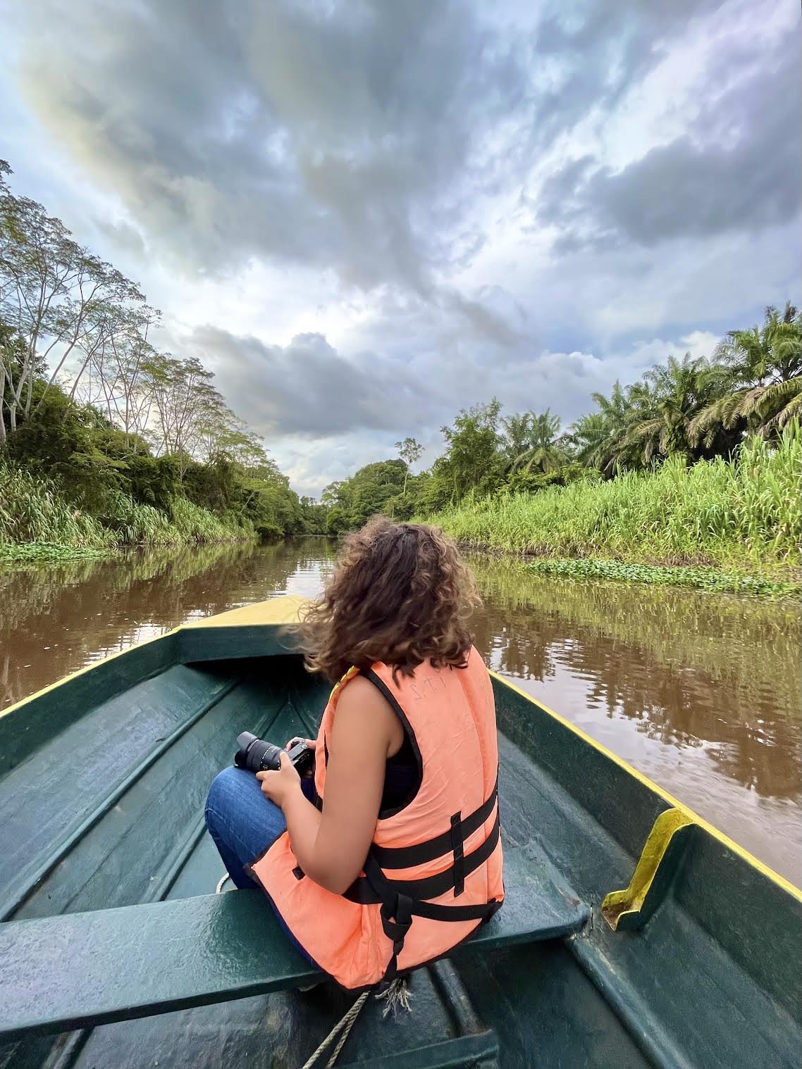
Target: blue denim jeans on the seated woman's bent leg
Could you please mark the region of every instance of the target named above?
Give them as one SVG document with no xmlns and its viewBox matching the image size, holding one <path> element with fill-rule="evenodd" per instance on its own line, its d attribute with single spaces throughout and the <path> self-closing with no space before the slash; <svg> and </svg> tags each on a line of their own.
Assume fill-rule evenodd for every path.
<svg viewBox="0 0 802 1069">
<path fill-rule="evenodd" d="M 305 794 L 309 789 L 307 785 L 311 785 L 311 779 L 302 780 Z M 245 865 L 264 853 L 287 830 L 287 821 L 279 807 L 262 793 L 261 784 L 252 772 L 231 765 L 212 780 L 205 818 L 209 834 L 234 885 L 256 887 L 257 884 L 245 872 Z M 295 946 L 311 961 L 278 911 L 276 915 Z"/>
</svg>

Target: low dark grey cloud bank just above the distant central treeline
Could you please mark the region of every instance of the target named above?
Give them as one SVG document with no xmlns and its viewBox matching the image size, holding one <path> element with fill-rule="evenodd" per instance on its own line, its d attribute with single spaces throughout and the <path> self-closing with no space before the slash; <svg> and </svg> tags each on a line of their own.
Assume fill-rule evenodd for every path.
<svg viewBox="0 0 802 1069">
<path fill-rule="evenodd" d="M 295 437 L 315 455 L 341 436 L 351 436 L 352 448 L 361 437 L 380 451 L 407 434 L 439 444 L 438 429 L 458 410 L 492 397 L 506 412 L 549 407 L 570 421 L 586 407 L 586 397 L 606 392 L 627 365 L 641 374 L 656 354 L 664 355 L 660 342 L 651 343 L 645 359 L 636 353 L 607 360 L 580 352 L 535 354 L 521 340 L 500 360 L 488 348 L 466 354 L 456 323 L 450 343 L 442 324 L 421 323 L 419 329 L 381 357 L 365 347 L 346 358 L 320 334 L 267 345 L 203 326 L 174 341 L 181 352 L 225 372 L 227 402 L 268 441 Z M 420 355 L 438 330 L 442 344 Z"/>
</svg>

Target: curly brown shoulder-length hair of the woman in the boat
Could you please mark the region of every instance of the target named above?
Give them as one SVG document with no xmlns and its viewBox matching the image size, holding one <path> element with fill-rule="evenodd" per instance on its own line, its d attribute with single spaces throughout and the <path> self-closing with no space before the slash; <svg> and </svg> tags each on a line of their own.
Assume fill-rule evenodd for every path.
<svg viewBox="0 0 802 1069">
<path fill-rule="evenodd" d="M 479 604 L 474 577 L 443 531 L 375 516 L 344 539 L 323 594 L 303 614 L 307 667 L 331 682 L 376 661 L 403 676 L 423 661 L 464 668 L 466 620 Z"/>
</svg>

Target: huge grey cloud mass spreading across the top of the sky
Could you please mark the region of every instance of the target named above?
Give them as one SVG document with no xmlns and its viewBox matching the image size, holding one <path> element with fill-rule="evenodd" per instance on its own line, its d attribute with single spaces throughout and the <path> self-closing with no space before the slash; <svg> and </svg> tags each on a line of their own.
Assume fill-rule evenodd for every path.
<svg viewBox="0 0 802 1069">
<path fill-rule="evenodd" d="M 422 294 L 487 239 L 477 198 L 514 188 L 709 6 L 560 3 L 510 33 L 459 0 L 32 0 L 20 69 L 152 248 L 205 273 L 266 255 Z"/>
</svg>

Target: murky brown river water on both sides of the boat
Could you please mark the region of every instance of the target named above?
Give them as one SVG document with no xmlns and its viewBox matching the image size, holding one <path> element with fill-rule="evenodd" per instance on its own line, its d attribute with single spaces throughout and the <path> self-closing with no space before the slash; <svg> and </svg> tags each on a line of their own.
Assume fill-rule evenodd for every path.
<svg viewBox="0 0 802 1069">
<path fill-rule="evenodd" d="M 185 620 L 314 595 L 322 538 L 0 569 L 0 712 Z M 472 558 L 488 664 L 802 883 L 800 614 Z"/>
</svg>

